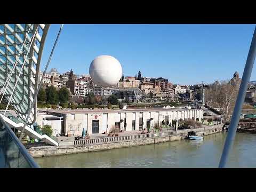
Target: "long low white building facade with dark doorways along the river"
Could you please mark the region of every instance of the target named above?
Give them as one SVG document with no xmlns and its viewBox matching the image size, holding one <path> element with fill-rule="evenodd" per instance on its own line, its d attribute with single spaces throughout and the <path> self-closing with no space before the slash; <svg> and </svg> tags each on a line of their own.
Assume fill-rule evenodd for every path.
<svg viewBox="0 0 256 192">
<path fill-rule="evenodd" d="M 51 111 L 50 111 L 51 113 Z M 61 113 L 53 111 L 53 114 Z M 85 110 L 83 113 L 65 112 L 59 116 L 63 117 L 63 131 L 65 134 L 82 135 L 83 128 L 89 134 L 94 133 L 109 133 L 115 126 L 124 131 L 147 130 L 150 124 L 150 129 L 153 129 L 155 123 L 161 125 L 161 122 L 179 119 L 196 119 L 201 122 L 203 113 L 201 109 L 145 109 L 145 110 Z M 150 121 L 150 118 L 153 120 Z M 123 121 L 122 121 L 123 120 Z"/>
</svg>

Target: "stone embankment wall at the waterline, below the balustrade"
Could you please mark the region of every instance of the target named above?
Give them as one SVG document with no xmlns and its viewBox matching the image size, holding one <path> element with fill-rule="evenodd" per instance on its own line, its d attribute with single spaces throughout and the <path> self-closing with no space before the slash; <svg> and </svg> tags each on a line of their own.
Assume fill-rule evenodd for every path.
<svg viewBox="0 0 256 192">
<path fill-rule="evenodd" d="M 214 134 L 221 132 L 222 125 L 203 127 L 195 129 L 195 131 L 204 132 L 204 135 Z M 165 136 L 165 137 L 155 137 L 155 138 L 143 138 L 143 139 L 134 139 L 130 141 L 115 141 L 108 143 L 96 143 L 89 145 L 69 145 L 69 146 L 50 146 L 50 147 L 32 147 L 28 149 L 28 152 L 33 157 L 42 157 L 42 156 L 54 156 L 54 155 L 65 155 L 65 154 L 76 154 L 76 153 L 85 153 L 90 151 L 100 151 L 107 149 L 115 149 L 122 147 L 133 147 L 140 145 L 149 145 L 156 144 L 161 142 L 176 141 L 184 139 L 184 134 L 187 130 L 178 131 L 177 135 Z"/>
</svg>

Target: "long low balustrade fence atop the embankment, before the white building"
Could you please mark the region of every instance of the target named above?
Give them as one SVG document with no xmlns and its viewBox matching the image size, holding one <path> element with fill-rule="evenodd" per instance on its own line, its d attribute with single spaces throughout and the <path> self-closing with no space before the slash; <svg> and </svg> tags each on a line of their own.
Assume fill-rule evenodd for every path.
<svg viewBox="0 0 256 192">
<path fill-rule="evenodd" d="M 120 136 L 120 137 L 107 137 L 107 138 L 99 138 L 99 139 L 81 139 L 81 140 L 73 141 L 73 145 L 90 145 L 90 144 L 116 142 L 116 141 L 130 141 L 130 140 L 135 140 L 135 139 L 168 137 L 168 136 L 172 136 L 175 134 L 177 134 L 176 131 L 170 131 L 170 132 L 127 135 L 127 136 Z"/>
</svg>

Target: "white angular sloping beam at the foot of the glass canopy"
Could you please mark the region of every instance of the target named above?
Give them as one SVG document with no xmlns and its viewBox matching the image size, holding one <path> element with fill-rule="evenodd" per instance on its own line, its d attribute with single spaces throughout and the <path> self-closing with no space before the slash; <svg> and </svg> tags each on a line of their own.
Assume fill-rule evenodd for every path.
<svg viewBox="0 0 256 192">
<path fill-rule="evenodd" d="M 24 123 L 19 119 L 18 117 L 13 116 L 10 113 L 6 113 L 6 115 L 3 115 L 3 112 L 0 112 L 0 116 L 3 118 L 5 123 L 7 123 L 10 127 L 15 127 L 15 129 L 18 129 L 19 131 L 22 131 Z M 52 145 L 52 146 L 59 146 L 59 143 L 57 141 L 54 141 L 52 138 L 50 138 L 46 134 L 39 134 L 35 130 L 31 129 L 29 126 L 25 127 L 24 133 L 28 135 L 30 138 L 38 139 L 41 141 L 44 141 L 45 143 Z"/>
</svg>

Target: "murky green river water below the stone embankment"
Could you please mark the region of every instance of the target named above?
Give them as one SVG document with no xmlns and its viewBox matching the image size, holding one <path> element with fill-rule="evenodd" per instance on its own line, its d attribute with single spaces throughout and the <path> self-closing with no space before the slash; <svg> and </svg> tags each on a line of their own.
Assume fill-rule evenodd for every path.
<svg viewBox="0 0 256 192">
<path fill-rule="evenodd" d="M 41 167 L 218 167 L 226 135 L 35 160 Z M 256 134 L 236 134 L 227 167 L 256 167 Z"/>
</svg>

